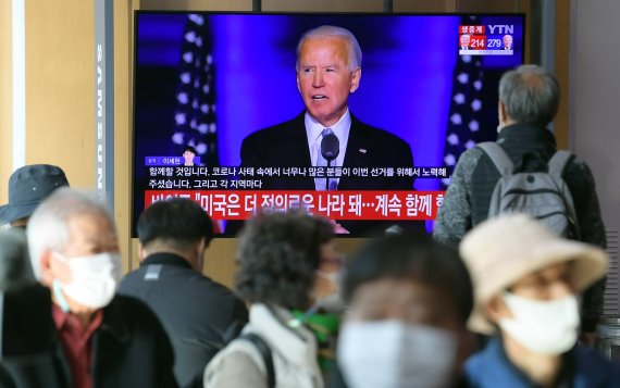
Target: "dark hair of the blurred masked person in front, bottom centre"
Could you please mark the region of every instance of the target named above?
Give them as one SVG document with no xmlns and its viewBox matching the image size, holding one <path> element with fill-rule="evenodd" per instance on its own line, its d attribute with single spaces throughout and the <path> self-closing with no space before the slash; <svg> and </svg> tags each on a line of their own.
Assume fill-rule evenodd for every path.
<svg viewBox="0 0 620 388">
<path fill-rule="evenodd" d="M 383 278 L 412 279 L 446 292 L 463 324 L 473 309 L 473 286 L 458 252 L 430 237 L 393 235 L 362 247 L 345 271 L 345 300 L 364 284 Z"/>
</svg>

